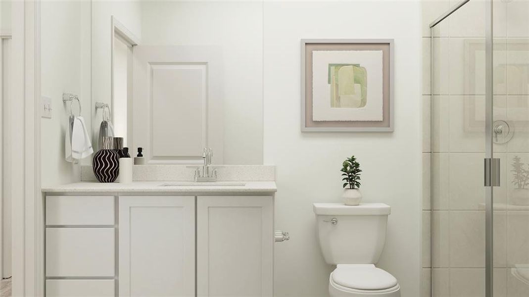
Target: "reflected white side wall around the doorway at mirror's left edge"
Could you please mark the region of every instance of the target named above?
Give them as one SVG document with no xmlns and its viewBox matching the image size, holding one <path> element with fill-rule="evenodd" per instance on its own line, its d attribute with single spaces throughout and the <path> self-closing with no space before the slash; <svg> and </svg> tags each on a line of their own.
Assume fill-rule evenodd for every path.
<svg viewBox="0 0 529 297">
<path fill-rule="evenodd" d="M 102 110 L 96 113 L 95 103 L 111 104 L 112 16 L 137 38 L 141 38 L 141 3 L 139 1 L 92 2 L 92 108 L 90 110 L 92 110 L 92 141 L 95 148 L 102 121 Z M 130 151 L 135 149 L 131 148 Z"/>
</svg>

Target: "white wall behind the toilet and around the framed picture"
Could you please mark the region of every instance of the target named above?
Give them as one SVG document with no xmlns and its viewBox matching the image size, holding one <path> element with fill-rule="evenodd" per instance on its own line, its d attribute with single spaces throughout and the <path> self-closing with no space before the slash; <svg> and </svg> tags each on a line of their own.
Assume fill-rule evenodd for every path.
<svg viewBox="0 0 529 297">
<path fill-rule="evenodd" d="M 391 205 L 378 264 L 419 295 L 421 256 L 421 19 L 413 1 L 265 2 L 264 161 L 277 166 L 275 296 L 326 296 L 313 202 L 340 202 L 339 169 L 358 157 L 364 202 Z M 300 39 L 395 39 L 395 132 L 300 132 Z"/>
</svg>

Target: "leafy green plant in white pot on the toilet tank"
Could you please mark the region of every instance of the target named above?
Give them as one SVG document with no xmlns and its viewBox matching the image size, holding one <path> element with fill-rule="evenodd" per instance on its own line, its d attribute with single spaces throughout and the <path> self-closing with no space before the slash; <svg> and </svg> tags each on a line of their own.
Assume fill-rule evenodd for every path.
<svg viewBox="0 0 529 297">
<path fill-rule="evenodd" d="M 360 164 L 357 158 L 352 156 L 345 159 L 342 163 L 342 181 L 343 184 L 343 200 L 345 205 L 358 205 L 362 201 L 362 193 L 360 193 Z"/>
</svg>

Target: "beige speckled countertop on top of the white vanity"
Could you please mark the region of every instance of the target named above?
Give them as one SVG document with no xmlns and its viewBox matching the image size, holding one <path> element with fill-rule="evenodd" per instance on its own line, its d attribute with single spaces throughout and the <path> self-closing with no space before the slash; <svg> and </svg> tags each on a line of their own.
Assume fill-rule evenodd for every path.
<svg viewBox="0 0 529 297">
<path fill-rule="evenodd" d="M 171 184 L 170 186 L 162 186 Z M 44 193 L 175 193 L 175 194 L 273 194 L 277 191 L 275 182 L 132 182 L 94 183 L 79 182 L 42 188 Z"/>
</svg>

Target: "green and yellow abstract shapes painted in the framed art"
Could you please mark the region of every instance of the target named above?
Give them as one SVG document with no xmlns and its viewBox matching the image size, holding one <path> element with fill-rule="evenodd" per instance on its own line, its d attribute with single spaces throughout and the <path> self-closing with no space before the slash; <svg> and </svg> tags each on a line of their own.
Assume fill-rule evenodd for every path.
<svg viewBox="0 0 529 297">
<path fill-rule="evenodd" d="M 329 64 L 331 107 L 359 109 L 367 104 L 367 71 L 360 64 Z"/>
</svg>

